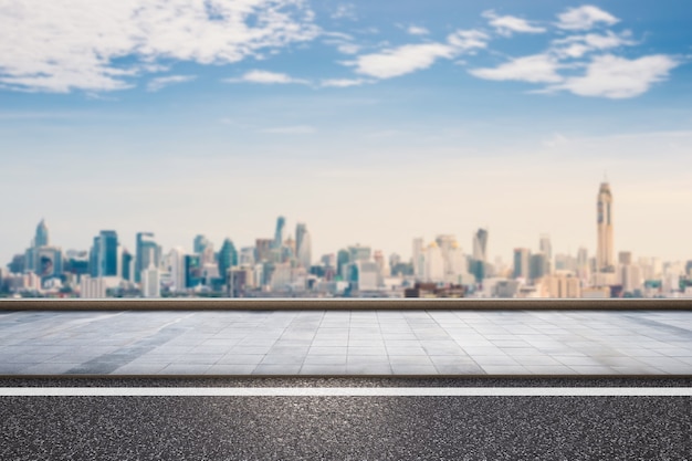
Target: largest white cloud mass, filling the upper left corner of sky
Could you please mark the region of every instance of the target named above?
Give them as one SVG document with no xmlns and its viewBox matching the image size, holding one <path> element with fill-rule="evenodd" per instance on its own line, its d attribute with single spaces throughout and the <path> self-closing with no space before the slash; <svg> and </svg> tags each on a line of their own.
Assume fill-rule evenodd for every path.
<svg viewBox="0 0 692 461">
<path fill-rule="evenodd" d="M 122 90 L 159 59 L 232 63 L 317 33 L 301 0 L 4 1 L 0 84 Z M 134 64 L 116 62 L 126 56 Z"/>
</svg>

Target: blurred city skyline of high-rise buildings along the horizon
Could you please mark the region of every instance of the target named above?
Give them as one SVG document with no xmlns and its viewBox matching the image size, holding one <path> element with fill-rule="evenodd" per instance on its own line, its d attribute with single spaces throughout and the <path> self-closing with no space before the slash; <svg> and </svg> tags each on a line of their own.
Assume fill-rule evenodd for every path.
<svg viewBox="0 0 692 461">
<path fill-rule="evenodd" d="M 551 238 L 535 250 L 516 248 L 512 263 L 489 261 L 487 229 L 471 235 L 464 253 L 455 235 L 412 239 L 408 259 L 354 244 L 318 259 L 305 223 L 273 237 L 217 250 L 203 234 L 192 251 L 164 250 L 153 232 L 138 232 L 133 251 L 117 231 L 102 230 L 88 250 L 51 244 L 42 220 L 31 244 L 0 268 L 2 297 L 692 297 L 692 260 L 663 262 L 620 251 L 615 256 L 612 195 L 608 182 L 596 200 L 596 255 L 553 253 Z"/>
</svg>

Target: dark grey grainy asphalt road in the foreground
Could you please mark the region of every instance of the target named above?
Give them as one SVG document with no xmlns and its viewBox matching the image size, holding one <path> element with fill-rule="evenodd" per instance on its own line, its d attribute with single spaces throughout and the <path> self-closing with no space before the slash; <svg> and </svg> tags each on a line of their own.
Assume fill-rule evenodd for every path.
<svg viewBox="0 0 692 461">
<path fill-rule="evenodd" d="M 15 386 L 692 386 L 677 379 L 0 379 Z M 691 460 L 690 397 L 0 397 L 1 460 Z"/>
</svg>

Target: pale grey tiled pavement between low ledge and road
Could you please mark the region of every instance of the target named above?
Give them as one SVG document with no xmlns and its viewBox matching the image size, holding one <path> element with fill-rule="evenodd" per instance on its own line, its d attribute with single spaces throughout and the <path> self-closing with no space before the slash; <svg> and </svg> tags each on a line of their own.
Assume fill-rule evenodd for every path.
<svg viewBox="0 0 692 461">
<path fill-rule="evenodd" d="M 692 312 L 0 312 L 3 375 L 692 375 Z"/>
</svg>

